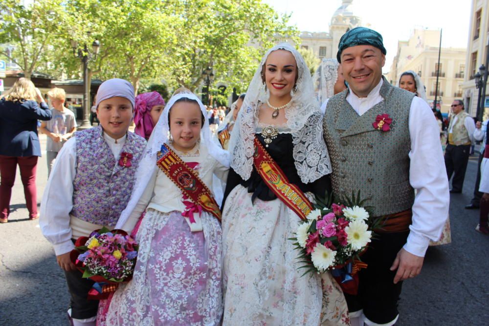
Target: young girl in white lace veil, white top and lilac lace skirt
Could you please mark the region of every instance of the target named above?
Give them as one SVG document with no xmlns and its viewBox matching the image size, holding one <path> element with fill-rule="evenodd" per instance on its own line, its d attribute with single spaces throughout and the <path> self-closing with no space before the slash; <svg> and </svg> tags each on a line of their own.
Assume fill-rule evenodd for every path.
<svg viewBox="0 0 489 326">
<path fill-rule="evenodd" d="M 186 167 L 197 172 L 204 189 L 212 189 L 213 175 L 227 177 L 229 155 L 211 141 L 205 117 L 202 103 L 188 90 L 174 94 L 163 110 L 140 162 L 133 195 L 116 225 L 130 232 L 146 211 L 136 233 L 133 279 L 119 286 L 108 306 L 101 304 L 97 325 L 220 325 L 220 214 L 208 213 L 184 192 L 185 185 L 195 186 Z M 163 144 L 186 165 L 176 170 L 184 173 L 175 180 L 163 163 L 157 165 L 165 157 Z"/>
</svg>

